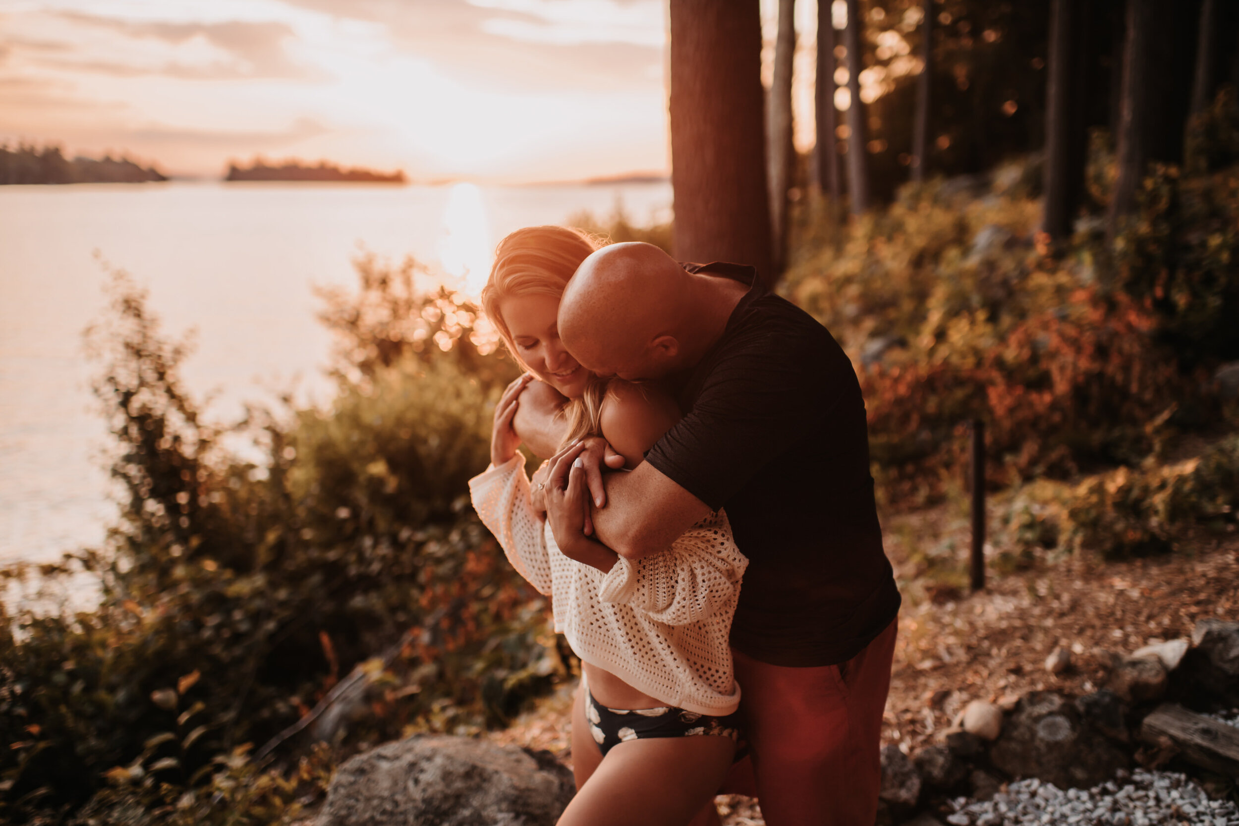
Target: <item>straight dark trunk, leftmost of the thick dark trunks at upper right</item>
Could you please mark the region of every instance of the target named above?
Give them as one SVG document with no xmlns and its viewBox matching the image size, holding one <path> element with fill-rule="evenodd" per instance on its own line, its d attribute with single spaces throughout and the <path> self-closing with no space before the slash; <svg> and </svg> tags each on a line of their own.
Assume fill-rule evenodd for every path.
<svg viewBox="0 0 1239 826">
<path fill-rule="evenodd" d="M 1046 212 L 1042 229 L 1056 241 L 1072 234 L 1083 193 L 1088 130 L 1084 99 L 1088 78 L 1082 54 L 1079 0 L 1053 0 L 1049 16 L 1049 78 L 1046 84 Z"/>
</svg>

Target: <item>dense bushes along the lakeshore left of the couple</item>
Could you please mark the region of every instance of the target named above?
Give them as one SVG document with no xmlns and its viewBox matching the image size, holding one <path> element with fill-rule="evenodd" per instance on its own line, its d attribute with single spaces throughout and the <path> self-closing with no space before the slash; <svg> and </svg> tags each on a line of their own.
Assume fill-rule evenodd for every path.
<svg viewBox="0 0 1239 826">
<path fill-rule="evenodd" d="M 476 315 L 442 291 L 396 293 L 425 326 L 392 333 L 399 316 L 374 291 L 390 297 L 399 274 L 368 266 L 362 293 L 333 293 L 325 313 L 348 322 L 346 358 L 362 354 L 338 365 L 332 405 L 252 410 L 235 428 L 204 424 L 180 379 L 185 347 L 118 276 L 93 338 L 120 520 L 76 561 L 99 577 L 97 611 L 2 609 L 0 817 L 276 822 L 321 784 L 247 744 L 337 682 L 349 690 L 278 755 L 326 741 L 321 773 L 339 748 L 477 731 L 563 672 L 543 601 L 468 508 L 510 363 L 457 352 Z M 389 349 L 361 341 L 375 331 Z M 227 453 L 232 432 L 264 458 Z"/>
</svg>

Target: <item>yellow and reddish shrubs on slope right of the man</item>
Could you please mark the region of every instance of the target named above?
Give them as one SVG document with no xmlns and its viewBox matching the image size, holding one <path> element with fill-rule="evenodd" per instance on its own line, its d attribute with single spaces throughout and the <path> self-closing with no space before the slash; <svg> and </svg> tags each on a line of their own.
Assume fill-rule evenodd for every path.
<svg viewBox="0 0 1239 826">
<path fill-rule="evenodd" d="M 1149 422 L 1206 404 L 1144 308 L 1099 291 L 1088 256 L 1048 254 L 1036 202 L 1006 194 L 1021 178 L 995 175 L 1002 194 L 980 199 L 975 181 L 906 187 L 788 275 L 788 295 L 857 363 L 891 503 L 960 477 L 970 419 L 989 422 L 987 480 L 1012 483 L 1139 461 L 1157 437 Z"/>
</svg>

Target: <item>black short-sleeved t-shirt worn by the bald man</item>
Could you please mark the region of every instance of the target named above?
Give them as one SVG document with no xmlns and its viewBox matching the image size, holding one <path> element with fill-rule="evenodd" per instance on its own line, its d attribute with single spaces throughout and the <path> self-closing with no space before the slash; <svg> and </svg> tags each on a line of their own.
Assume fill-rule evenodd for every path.
<svg viewBox="0 0 1239 826">
<path fill-rule="evenodd" d="M 646 457 L 710 508 L 748 557 L 731 644 L 763 663 L 851 659 L 900 608 L 869 472 L 865 402 L 825 327 L 753 267 L 685 265 L 750 285 Z"/>
</svg>

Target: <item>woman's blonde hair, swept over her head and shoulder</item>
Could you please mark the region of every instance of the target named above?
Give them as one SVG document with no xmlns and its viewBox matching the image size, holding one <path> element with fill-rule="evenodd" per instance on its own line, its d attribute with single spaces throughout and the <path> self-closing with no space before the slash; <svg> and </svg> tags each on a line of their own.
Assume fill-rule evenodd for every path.
<svg viewBox="0 0 1239 826">
<path fill-rule="evenodd" d="M 494 250 L 491 277 L 482 289 L 482 312 L 494 324 L 517 364 L 529 369 L 517 352 L 512 331 L 499 312 L 499 302 L 508 296 L 527 295 L 559 298 L 576 267 L 600 246 L 602 243 L 584 229 L 554 225 L 525 227 L 499 241 Z M 565 443 L 601 431 L 600 419 L 606 393 L 606 380 L 590 375 L 585 394 L 580 399 L 569 399 L 564 407 L 564 417 L 567 420 Z"/>
</svg>

